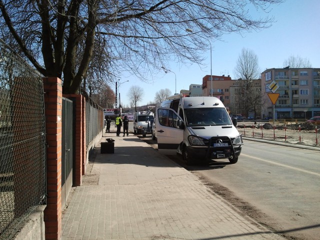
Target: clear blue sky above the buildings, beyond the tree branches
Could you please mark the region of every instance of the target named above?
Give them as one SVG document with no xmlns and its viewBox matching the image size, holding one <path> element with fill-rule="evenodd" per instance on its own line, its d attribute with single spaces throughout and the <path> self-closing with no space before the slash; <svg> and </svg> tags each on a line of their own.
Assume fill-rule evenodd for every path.
<svg viewBox="0 0 320 240">
<path fill-rule="evenodd" d="M 286 0 L 271 6 L 270 15 L 275 22 L 260 31 L 232 33 L 222 36 L 221 41 L 212 41 L 212 75 L 234 76 L 234 68 L 241 49 L 251 49 L 257 56 L 261 72 L 266 68 L 283 67 L 283 61 L 290 55 L 307 58 L 312 67 L 320 67 L 320 1 Z M 206 52 L 202 69 L 197 65 L 182 65 L 170 62 L 170 70 L 176 75 L 176 91 L 189 89 L 190 84 L 202 84 L 202 77 L 210 74 L 210 48 Z M 169 88 L 174 93 L 175 76 L 172 72 L 160 72 L 152 83 L 145 83 L 132 75 L 120 78 L 121 105 L 129 105 L 128 90 L 132 85 L 143 88 L 144 95 L 138 105 L 154 101 L 155 93 Z M 128 78 L 129 76 L 129 78 Z M 129 79 L 128 82 L 124 82 Z"/>
</svg>

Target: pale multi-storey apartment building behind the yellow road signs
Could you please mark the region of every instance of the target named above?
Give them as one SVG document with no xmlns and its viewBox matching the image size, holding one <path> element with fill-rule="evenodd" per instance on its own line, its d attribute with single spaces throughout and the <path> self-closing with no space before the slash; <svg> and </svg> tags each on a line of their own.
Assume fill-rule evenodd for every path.
<svg viewBox="0 0 320 240">
<path fill-rule="evenodd" d="M 261 85 L 265 101 L 262 117 L 273 117 L 267 93 L 275 88 L 273 93 L 279 93 L 274 104 L 275 119 L 320 115 L 320 68 L 269 68 L 261 73 Z"/>
</svg>

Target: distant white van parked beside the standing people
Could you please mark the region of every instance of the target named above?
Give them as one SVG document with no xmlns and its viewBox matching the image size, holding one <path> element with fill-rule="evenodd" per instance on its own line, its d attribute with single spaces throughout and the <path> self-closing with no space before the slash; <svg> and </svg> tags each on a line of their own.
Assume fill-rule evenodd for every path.
<svg viewBox="0 0 320 240">
<path fill-rule="evenodd" d="M 154 115 L 152 111 L 136 111 L 133 117 L 133 132 L 134 134 L 142 134 L 145 136 L 151 133 Z"/>
</svg>

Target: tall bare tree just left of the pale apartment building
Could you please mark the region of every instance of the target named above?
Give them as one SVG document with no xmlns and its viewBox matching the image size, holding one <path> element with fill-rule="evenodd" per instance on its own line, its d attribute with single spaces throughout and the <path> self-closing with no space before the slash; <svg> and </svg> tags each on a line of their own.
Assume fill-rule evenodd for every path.
<svg viewBox="0 0 320 240">
<path fill-rule="evenodd" d="M 235 67 L 236 76 L 238 77 L 236 91 L 237 111 L 244 116 L 253 111 L 254 117 L 259 113 L 261 108 L 261 89 L 255 86 L 255 79 L 260 78 L 260 69 L 257 55 L 250 49 L 242 48 L 237 59 Z"/>
</svg>

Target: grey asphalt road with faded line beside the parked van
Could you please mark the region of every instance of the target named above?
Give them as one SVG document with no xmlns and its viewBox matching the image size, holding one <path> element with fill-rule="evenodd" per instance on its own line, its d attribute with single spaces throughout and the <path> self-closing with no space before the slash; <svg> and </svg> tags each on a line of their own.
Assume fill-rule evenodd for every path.
<svg viewBox="0 0 320 240">
<path fill-rule="evenodd" d="M 157 148 L 151 135 L 141 139 Z M 251 140 L 244 143 L 236 164 L 186 166 L 181 157 L 169 157 L 244 214 L 288 239 L 319 239 L 320 152 Z"/>
</svg>

